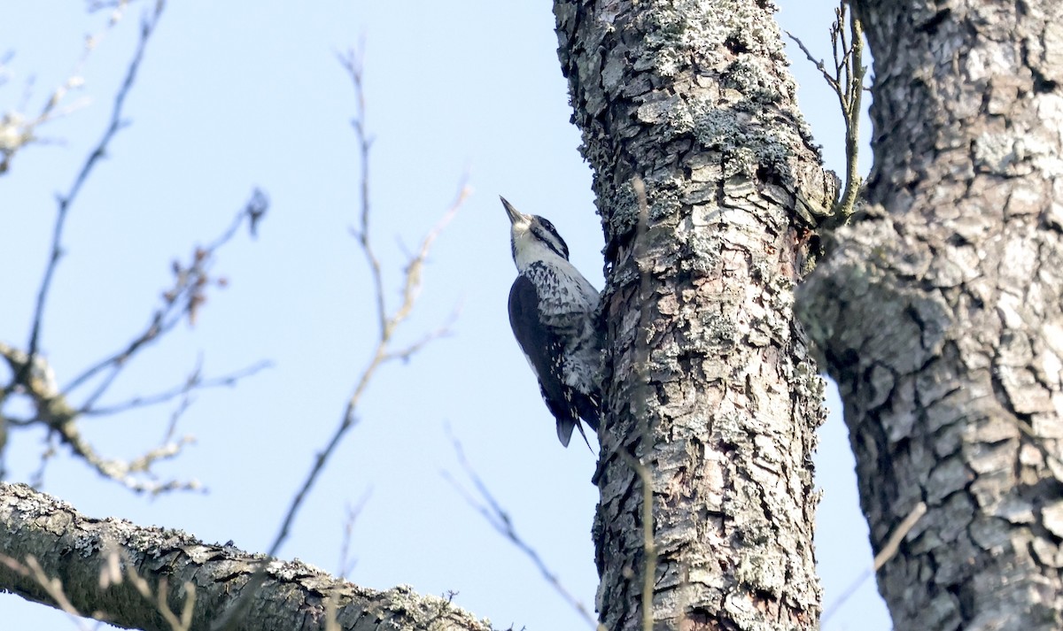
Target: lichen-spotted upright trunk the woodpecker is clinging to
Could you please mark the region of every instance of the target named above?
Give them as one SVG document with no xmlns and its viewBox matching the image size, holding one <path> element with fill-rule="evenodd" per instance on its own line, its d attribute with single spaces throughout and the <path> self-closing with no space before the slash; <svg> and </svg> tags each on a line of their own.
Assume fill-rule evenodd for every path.
<svg viewBox="0 0 1063 631">
<path fill-rule="evenodd" d="M 817 628 L 823 382 L 792 304 L 806 221 L 837 185 L 797 112 L 774 6 L 554 11 L 607 243 L 600 619 L 644 628 L 637 460 L 653 482 L 654 629 Z"/>
</svg>

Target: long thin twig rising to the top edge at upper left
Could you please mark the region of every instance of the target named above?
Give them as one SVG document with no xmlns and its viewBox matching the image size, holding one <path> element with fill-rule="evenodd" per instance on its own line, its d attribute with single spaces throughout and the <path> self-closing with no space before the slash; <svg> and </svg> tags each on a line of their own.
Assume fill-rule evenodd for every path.
<svg viewBox="0 0 1063 631">
<path fill-rule="evenodd" d="M 157 0 L 155 2 L 154 13 L 141 21 L 140 39 L 137 42 L 136 51 L 133 53 L 133 58 L 130 61 L 129 68 L 125 71 L 125 79 L 122 81 L 122 85 L 118 89 L 118 93 L 115 96 L 115 104 L 111 110 L 111 121 L 107 123 L 107 127 L 103 132 L 103 137 L 100 139 L 100 142 L 96 146 L 91 153 L 88 154 L 88 157 L 82 165 L 81 170 L 74 177 L 70 189 L 65 195 L 61 195 L 57 199 L 58 208 L 55 215 L 55 226 L 52 231 L 51 254 L 48 257 L 48 265 L 45 267 L 45 275 L 40 280 L 40 288 L 37 291 L 37 304 L 33 312 L 33 325 L 30 332 L 30 341 L 27 344 L 27 354 L 30 356 L 31 361 L 32 358 L 37 355 L 38 345 L 40 343 L 40 328 L 45 318 L 45 306 L 48 301 L 48 292 L 51 289 L 55 268 L 58 265 L 60 258 L 63 256 L 63 229 L 66 226 L 66 219 L 69 214 L 70 206 L 77 200 L 78 193 L 81 191 L 85 181 L 92 172 L 92 169 L 97 164 L 99 164 L 100 159 L 106 155 L 107 146 L 111 143 L 111 140 L 122 127 L 126 125 L 126 122 L 122 119 L 122 108 L 125 105 L 125 98 L 133 88 L 133 84 L 136 81 L 137 70 L 140 68 L 140 62 L 144 61 L 144 54 L 147 50 L 148 41 L 155 32 L 155 28 L 158 25 L 158 20 L 162 17 L 163 8 L 165 8 L 165 0 Z M 23 376 L 19 376 L 16 380 L 21 381 L 22 378 Z"/>
</svg>

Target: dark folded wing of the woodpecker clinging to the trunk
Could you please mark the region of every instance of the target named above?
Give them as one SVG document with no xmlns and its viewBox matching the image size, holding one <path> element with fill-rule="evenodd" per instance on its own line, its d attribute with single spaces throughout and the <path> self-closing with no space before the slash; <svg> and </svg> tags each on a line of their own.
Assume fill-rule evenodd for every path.
<svg viewBox="0 0 1063 631">
<path fill-rule="evenodd" d="M 513 337 L 527 358 L 542 398 L 557 419 L 557 438 L 569 446 L 572 430 L 579 423 L 574 390 L 562 379 L 564 340 L 558 331 L 541 320 L 539 291 L 525 274 L 517 276 L 509 290 L 509 325 Z"/>
</svg>

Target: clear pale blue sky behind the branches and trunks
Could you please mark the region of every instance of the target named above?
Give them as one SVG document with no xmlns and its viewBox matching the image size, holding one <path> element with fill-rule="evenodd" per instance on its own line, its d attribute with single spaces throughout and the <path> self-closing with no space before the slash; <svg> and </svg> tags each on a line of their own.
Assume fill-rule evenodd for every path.
<svg viewBox="0 0 1063 631">
<path fill-rule="evenodd" d="M 14 56 L 0 85 L 0 110 L 33 116 L 70 75 L 85 35 L 107 19 L 106 12 L 86 13 L 85 4 L 6 2 L 0 53 Z M 783 4 L 783 28 L 827 56 L 834 4 Z M 87 104 L 43 126 L 38 134 L 49 143 L 20 152 L 0 175 L 7 261 L 0 340 L 24 344 L 29 337 L 54 197 L 70 186 L 102 134 L 145 8 L 134 2 L 78 71 L 84 86 L 66 102 Z M 419 339 L 455 307 L 460 314 L 450 337 L 376 375 L 360 424 L 281 557 L 336 572 L 345 507 L 369 492 L 353 529 L 351 580 L 457 592 L 457 604 L 501 628 L 586 629 L 441 475 L 465 480 L 450 427 L 518 532 L 593 607 L 594 456 L 576 441 L 569 449 L 558 444 L 506 318 L 514 269 L 500 193 L 553 221 L 573 262 L 602 287 L 591 174 L 569 122 L 545 2 L 171 1 L 126 105 L 132 124 L 70 210 L 41 348 L 61 383 L 119 349 L 158 305 L 171 261 L 187 260 L 193 245 L 221 233 L 259 186 L 271 207 L 258 239 L 241 233 L 214 268 L 227 287 L 209 292 L 195 327 L 182 324 L 139 356 L 108 400 L 179 385 L 199 357 L 207 375 L 259 360 L 273 368 L 235 388 L 196 394 L 181 417 L 178 433 L 197 443 L 158 472 L 198 479 L 208 493 L 135 496 L 63 447 L 46 470 L 44 490 L 89 516 L 268 548 L 376 335 L 370 276 L 349 232 L 357 220 L 353 90 L 336 61 L 337 51 L 361 38 L 367 124 L 375 139 L 372 229 L 392 305 L 407 253 L 449 206 L 463 173 L 474 189 L 437 241 L 420 303 L 399 340 Z M 837 103 L 804 56 L 793 58 L 803 109 L 828 166 L 841 172 Z M 837 398 L 830 405 L 816 459 L 825 492 L 816 557 L 827 606 L 871 564 Z M 88 419 L 83 429 L 105 454 L 135 458 L 158 444 L 173 408 Z M 12 433 L 7 479 L 30 477 L 44 439 L 37 430 Z M 63 614 L 11 595 L 0 595 L 0 619 L 11 629 L 74 628 Z M 889 629 L 874 581 L 826 628 Z"/>
</svg>

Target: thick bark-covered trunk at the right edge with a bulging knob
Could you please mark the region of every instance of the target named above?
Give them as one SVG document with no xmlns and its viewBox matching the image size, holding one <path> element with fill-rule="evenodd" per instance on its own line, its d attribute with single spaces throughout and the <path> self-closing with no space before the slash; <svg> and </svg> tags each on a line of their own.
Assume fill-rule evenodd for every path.
<svg viewBox="0 0 1063 631">
<path fill-rule="evenodd" d="M 1063 4 L 856 2 L 868 205 L 799 294 L 896 629 L 1063 628 Z"/>
</svg>

